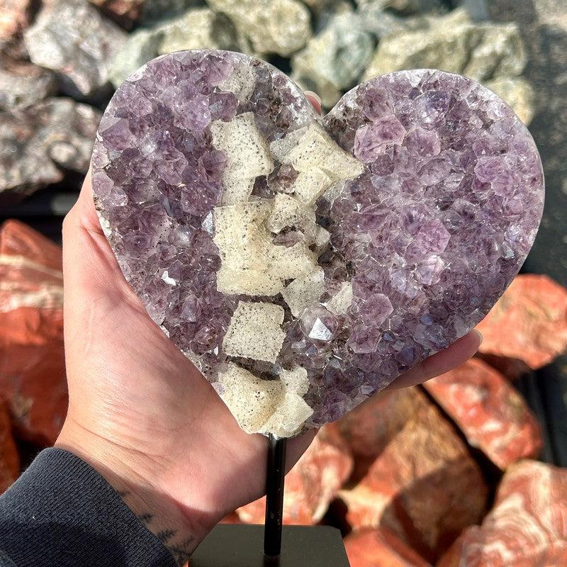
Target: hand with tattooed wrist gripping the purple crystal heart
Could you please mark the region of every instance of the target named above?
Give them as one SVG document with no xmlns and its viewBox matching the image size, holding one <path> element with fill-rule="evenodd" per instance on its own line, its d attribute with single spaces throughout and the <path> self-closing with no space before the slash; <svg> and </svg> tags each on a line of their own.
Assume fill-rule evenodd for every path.
<svg viewBox="0 0 567 567">
<path fill-rule="evenodd" d="M 264 493 L 266 438 L 238 427 L 145 312 L 99 225 L 90 172 L 64 221 L 63 259 L 69 412 L 56 446 L 96 468 L 184 563 L 218 520 Z M 479 344 L 471 332 L 395 383 L 442 374 Z M 288 469 L 313 436 L 290 439 Z"/>
</svg>

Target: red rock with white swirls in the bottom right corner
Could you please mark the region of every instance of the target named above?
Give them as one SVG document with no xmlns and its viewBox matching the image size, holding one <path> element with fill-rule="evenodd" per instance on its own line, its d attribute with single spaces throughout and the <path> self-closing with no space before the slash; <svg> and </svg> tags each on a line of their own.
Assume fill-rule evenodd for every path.
<svg viewBox="0 0 567 567">
<path fill-rule="evenodd" d="M 526 459 L 503 477 L 493 510 L 438 567 L 567 565 L 567 469 Z"/>
</svg>

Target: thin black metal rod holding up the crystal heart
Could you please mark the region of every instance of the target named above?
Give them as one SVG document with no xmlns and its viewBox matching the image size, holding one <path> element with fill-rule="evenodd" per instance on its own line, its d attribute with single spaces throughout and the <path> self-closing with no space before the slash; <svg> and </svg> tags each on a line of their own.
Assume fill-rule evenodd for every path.
<svg viewBox="0 0 567 567">
<path fill-rule="evenodd" d="M 283 515 L 283 480 L 286 476 L 287 439 L 269 435 L 266 471 L 266 520 L 264 522 L 264 555 L 278 557 L 281 552 Z"/>
</svg>

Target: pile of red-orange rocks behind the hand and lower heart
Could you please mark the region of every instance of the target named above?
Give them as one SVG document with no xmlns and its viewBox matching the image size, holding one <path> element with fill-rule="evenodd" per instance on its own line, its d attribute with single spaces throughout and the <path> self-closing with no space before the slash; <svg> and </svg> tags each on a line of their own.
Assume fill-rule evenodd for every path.
<svg viewBox="0 0 567 567">
<path fill-rule="evenodd" d="M 22 223 L 4 223 L 0 279 L 9 284 L 0 288 L 1 491 L 18 475 L 21 442 L 51 444 L 67 407 L 61 250 Z M 498 352 L 523 357 L 525 368 L 538 364 L 517 348 L 503 310 L 514 314 L 525 344 L 538 345 L 537 360 L 565 352 L 566 296 L 546 276 L 517 276 L 483 323 L 500 337 Z M 325 425 L 288 474 L 284 522 L 341 528 L 352 567 L 561 567 L 566 470 L 533 461 L 540 448 L 522 396 L 475 357 Z M 225 521 L 263 517 L 261 499 Z"/>
</svg>

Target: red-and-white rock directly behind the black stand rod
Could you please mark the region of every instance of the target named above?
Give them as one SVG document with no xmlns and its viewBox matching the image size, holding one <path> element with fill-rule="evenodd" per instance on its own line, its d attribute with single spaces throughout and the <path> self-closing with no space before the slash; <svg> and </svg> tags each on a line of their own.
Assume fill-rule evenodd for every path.
<svg viewBox="0 0 567 567">
<path fill-rule="evenodd" d="M 284 524 L 315 524 L 352 471 L 352 456 L 333 424 L 325 425 L 286 476 Z M 264 522 L 266 498 L 238 508 L 240 520 Z"/>
</svg>

